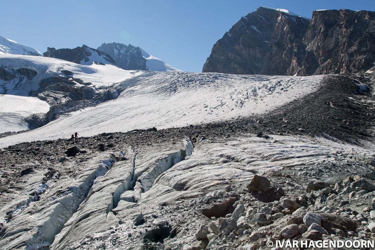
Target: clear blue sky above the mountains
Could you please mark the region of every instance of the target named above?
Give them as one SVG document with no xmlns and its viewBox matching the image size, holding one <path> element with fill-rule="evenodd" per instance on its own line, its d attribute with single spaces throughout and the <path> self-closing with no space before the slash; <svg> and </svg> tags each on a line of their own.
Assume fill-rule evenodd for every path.
<svg viewBox="0 0 375 250">
<path fill-rule="evenodd" d="M 0 6 L 0 35 L 40 52 L 47 47 L 131 43 L 191 72 L 201 72 L 213 44 L 259 6 L 307 17 L 315 9 L 375 11 L 374 0 L 1 0 Z"/>
</svg>

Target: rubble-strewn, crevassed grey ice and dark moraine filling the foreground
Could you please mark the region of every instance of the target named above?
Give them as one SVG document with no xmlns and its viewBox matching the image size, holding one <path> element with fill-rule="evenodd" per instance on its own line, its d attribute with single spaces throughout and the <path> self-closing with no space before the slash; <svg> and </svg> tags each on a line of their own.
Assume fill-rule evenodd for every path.
<svg viewBox="0 0 375 250">
<path fill-rule="evenodd" d="M 0 249 L 374 240 L 371 79 L 330 77 L 274 113 L 1 149 Z"/>
</svg>

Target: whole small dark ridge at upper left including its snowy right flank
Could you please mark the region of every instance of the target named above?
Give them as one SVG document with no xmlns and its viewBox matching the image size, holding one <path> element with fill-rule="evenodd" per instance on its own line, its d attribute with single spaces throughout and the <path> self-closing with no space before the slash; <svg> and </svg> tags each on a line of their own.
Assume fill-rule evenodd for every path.
<svg viewBox="0 0 375 250">
<path fill-rule="evenodd" d="M 116 65 L 115 61 L 110 55 L 97 49 L 90 48 L 86 45 L 82 45 L 82 47 L 77 47 L 74 49 L 55 49 L 48 47 L 47 51 L 43 53 L 43 56 L 71 61 L 73 63 L 82 65 Z"/>
</svg>

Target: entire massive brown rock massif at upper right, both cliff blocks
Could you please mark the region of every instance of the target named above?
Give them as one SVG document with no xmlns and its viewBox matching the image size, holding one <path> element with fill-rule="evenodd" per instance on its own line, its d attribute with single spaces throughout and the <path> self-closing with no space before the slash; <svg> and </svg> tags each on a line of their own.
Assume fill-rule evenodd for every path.
<svg viewBox="0 0 375 250">
<path fill-rule="evenodd" d="M 375 12 L 314 11 L 312 19 L 259 7 L 218 40 L 202 72 L 357 73 L 375 62 Z"/>
</svg>

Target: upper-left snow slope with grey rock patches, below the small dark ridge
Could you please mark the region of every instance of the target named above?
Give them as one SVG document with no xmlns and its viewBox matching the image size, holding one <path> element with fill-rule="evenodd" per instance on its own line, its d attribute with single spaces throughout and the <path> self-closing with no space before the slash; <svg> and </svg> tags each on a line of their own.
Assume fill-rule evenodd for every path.
<svg viewBox="0 0 375 250">
<path fill-rule="evenodd" d="M 108 64 L 85 66 L 56 58 L 25 55 L 1 54 L 0 65 L 10 72 L 21 68 L 37 72 L 37 75 L 32 79 L 22 75 L 18 75 L 8 81 L 0 79 L 0 93 L 21 96 L 28 96 L 30 91 L 36 91 L 42 79 L 55 75 L 64 75 L 62 70 L 69 70 L 73 73 L 74 78 L 80 78 L 84 82 L 91 82 L 96 87 L 108 86 L 142 73 L 141 71 L 123 70 Z"/>
</svg>

